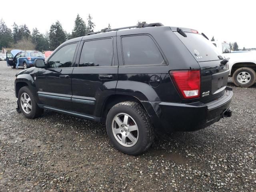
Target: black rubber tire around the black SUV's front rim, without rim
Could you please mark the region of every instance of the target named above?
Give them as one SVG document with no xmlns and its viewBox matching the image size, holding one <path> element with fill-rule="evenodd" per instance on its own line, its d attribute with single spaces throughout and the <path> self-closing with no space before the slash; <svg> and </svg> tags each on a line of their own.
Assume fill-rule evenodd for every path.
<svg viewBox="0 0 256 192">
<path fill-rule="evenodd" d="M 21 100 L 20 100 L 20 97 L 21 97 L 22 93 L 26 93 L 30 97 L 31 104 L 32 104 L 32 109 L 31 109 L 31 112 L 29 114 L 25 113 L 24 110 L 22 109 Z M 36 104 L 34 95 L 29 90 L 28 86 L 24 86 L 24 87 L 20 88 L 19 93 L 18 93 L 18 104 L 19 104 L 19 107 L 20 107 L 20 111 L 22 112 L 22 114 L 25 117 L 32 119 L 36 116 L 36 105 L 37 104 Z"/>
</svg>

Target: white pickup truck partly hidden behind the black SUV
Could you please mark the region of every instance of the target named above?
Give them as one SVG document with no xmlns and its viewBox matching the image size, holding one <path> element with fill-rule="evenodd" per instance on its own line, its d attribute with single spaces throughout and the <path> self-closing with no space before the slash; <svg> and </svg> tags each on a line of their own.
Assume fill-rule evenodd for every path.
<svg viewBox="0 0 256 192">
<path fill-rule="evenodd" d="M 232 52 L 227 42 L 212 41 L 218 51 L 228 60 L 229 76 L 238 87 L 250 87 L 256 82 L 256 52 Z"/>
</svg>

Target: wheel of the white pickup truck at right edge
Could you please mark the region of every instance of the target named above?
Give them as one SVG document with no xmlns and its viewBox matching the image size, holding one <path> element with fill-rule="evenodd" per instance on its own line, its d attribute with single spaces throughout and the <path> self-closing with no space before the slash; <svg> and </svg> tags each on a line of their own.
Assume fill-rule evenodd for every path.
<svg viewBox="0 0 256 192">
<path fill-rule="evenodd" d="M 233 83 L 238 87 L 250 87 L 256 81 L 256 73 L 252 68 L 242 67 L 237 69 L 233 76 Z"/>
</svg>

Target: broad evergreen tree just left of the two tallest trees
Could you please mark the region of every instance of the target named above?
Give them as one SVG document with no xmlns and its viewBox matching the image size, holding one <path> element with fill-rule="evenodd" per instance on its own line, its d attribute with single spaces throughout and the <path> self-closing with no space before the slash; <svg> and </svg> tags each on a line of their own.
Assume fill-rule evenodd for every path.
<svg viewBox="0 0 256 192">
<path fill-rule="evenodd" d="M 52 24 L 49 32 L 50 50 L 55 50 L 60 44 L 66 41 L 66 34 L 59 21 Z"/>
</svg>

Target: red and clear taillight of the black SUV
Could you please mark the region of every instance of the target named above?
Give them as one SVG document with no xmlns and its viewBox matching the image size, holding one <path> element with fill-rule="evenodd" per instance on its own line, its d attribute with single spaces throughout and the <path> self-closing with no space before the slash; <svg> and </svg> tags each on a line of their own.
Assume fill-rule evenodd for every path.
<svg viewBox="0 0 256 192">
<path fill-rule="evenodd" d="M 170 76 L 184 99 L 200 96 L 200 70 L 170 71 Z"/>
</svg>

